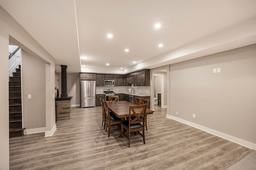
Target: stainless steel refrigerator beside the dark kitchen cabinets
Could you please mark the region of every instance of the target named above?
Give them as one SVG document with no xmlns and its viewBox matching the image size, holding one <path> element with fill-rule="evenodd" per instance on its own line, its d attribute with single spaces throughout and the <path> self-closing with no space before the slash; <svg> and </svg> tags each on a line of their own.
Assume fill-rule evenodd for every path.
<svg viewBox="0 0 256 170">
<path fill-rule="evenodd" d="M 96 106 L 95 80 L 81 80 L 81 108 Z"/>
</svg>

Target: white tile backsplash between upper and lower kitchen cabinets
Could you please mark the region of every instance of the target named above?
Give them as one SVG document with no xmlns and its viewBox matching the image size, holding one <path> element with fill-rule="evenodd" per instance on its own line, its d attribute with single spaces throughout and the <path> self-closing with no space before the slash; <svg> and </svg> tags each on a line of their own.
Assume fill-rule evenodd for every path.
<svg viewBox="0 0 256 170">
<path fill-rule="evenodd" d="M 134 93 L 150 95 L 150 86 L 96 86 L 96 94 L 104 93 L 104 89 L 113 89 L 115 93 L 129 93 L 131 88 L 134 89 Z"/>
</svg>

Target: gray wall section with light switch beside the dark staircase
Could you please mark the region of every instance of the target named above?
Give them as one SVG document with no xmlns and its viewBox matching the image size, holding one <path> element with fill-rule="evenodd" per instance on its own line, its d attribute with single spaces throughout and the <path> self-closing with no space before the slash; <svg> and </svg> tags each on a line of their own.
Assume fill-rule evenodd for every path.
<svg viewBox="0 0 256 170">
<path fill-rule="evenodd" d="M 22 114 L 26 130 L 46 126 L 45 92 L 45 63 L 22 50 Z"/>
</svg>

